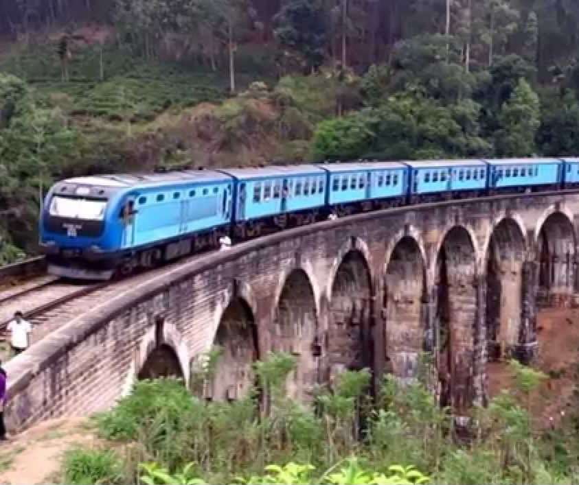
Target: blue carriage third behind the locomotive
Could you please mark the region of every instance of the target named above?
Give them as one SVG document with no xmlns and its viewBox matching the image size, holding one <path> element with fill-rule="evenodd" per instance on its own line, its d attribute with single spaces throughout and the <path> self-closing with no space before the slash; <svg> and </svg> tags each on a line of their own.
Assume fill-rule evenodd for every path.
<svg viewBox="0 0 579 485">
<path fill-rule="evenodd" d="M 481 160 L 407 161 L 411 204 L 478 197 L 486 190 L 488 167 Z"/>
</svg>

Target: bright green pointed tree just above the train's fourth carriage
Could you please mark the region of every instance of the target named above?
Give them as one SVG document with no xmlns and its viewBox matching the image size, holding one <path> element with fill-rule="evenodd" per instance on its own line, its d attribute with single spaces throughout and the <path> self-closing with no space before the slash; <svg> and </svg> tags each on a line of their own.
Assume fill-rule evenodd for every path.
<svg viewBox="0 0 579 485">
<path fill-rule="evenodd" d="M 501 129 L 496 134 L 499 156 L 530 156 L 536 152 L 535 135 L 540 126 L 536 93 L 523 79 L 499 114 Z"/>
</svg>

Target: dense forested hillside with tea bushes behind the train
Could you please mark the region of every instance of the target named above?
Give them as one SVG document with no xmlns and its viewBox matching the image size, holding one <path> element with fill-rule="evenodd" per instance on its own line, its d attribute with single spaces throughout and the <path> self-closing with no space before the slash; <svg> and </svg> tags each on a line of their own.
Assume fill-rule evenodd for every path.
<svg viewBox="0 0 579 485">
<path fill-rule="evenodd" d="M 579 153 L 574 0 L 4 0 L 0 263 L 55 178 Z"/>
</svg>

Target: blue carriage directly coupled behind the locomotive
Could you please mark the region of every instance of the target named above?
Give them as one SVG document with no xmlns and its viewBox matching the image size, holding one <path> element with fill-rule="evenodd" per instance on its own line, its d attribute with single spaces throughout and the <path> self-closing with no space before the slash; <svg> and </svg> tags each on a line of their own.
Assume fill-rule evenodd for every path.
<svg viewBox="0 0 579 485">
<path fill-rule="evenodd" d="M 236 180 L 236 237 L 315 222 L 326 202 L 326 172 L 315 165 L 223 169 Z"/>
</svg>

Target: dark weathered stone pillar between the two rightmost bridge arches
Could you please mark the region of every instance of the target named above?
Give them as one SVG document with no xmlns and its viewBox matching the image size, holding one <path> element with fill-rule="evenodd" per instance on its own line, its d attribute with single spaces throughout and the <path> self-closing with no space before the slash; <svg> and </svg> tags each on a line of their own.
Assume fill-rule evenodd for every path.
<svg viewBox="0 0 579 485">
<path fill-rule="evenodd" d="M 515 356 L 523 364 L 528 364 L 536 356 L 536 294 L 538 289 L 538 265 L 535 261 L 523 263 L 522 281 L 523 306 L 521 310 L 521 327 L 519 344 L 515 349 Z"/>
</svg>

